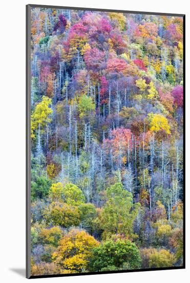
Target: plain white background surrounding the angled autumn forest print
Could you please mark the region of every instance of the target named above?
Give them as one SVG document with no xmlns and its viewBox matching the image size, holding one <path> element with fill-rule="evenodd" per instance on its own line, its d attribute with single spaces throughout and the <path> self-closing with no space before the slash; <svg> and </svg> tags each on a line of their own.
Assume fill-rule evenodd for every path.
<svg viewBox="0 0 190 283">
<path fill-rule="evenodd" d="M 189 7 L 187 0 L 11 0 L 0 6 L 0 280 L 25 278 L 25 5 L 42 4 L 186 14 L 186 270 L 35 279 L 66 283 L 189 282 Z M 2 63 L 3 62 L 3 63 Z"/>
</svg>

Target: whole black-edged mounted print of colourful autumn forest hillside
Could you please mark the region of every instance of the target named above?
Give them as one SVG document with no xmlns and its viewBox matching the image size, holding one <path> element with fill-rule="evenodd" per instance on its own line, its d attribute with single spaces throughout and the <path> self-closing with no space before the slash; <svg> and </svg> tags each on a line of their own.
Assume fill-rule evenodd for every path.
<svg viewBox="0 0 190 283">
<path fill-rule="evenodd" d="M 27 5 L 27 278 L 185 268 L 184 31 Z"/>
</svg>

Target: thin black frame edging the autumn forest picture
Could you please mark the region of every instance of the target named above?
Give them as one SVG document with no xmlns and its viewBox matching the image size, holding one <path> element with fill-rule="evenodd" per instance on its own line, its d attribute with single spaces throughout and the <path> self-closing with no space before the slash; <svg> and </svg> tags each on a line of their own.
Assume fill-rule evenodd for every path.
<svg viewBox="0 0 190 283">
<path fill-rule="evenodd" d="M 86 10 L 86 11 L 102 11 L 102 12 L 122 12 L 131 14 L 147 14 L 147 15 L 166 15 L 183 17 L 183 266 L 168 267 L 168 268 L 147 268 L 122 271 L 103 271 L 103 272 L 88 272 L 88 273 L 73 273 L 73 274 L 53 274 L 53 275 L 31 275 L 31 141 L 30 141 L 30 122 L 31 122 L 31 8 L 54 8 L 54 9 L 70 9 L 70 10 Z M 177 270 L 185 269 L 185 14 L 176 13 L 159 13 L 159 12 L 141 12 L 128 10 L 113 10 L 113 9 L 98 9 L 84 7 L 64 7 L 50 5 L 26 5 L 26 278 L 47 278 L 47 277 L 65 277 L 65 276 L 80 276 L 80 275 L 95 275 L 95 274 L 112 274 L 112 273 L 128 273 L 128 272 L 143 272 L 143 271 L 158 271 L 158 270 Z"/>
</svg>

